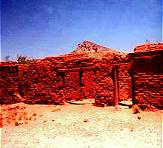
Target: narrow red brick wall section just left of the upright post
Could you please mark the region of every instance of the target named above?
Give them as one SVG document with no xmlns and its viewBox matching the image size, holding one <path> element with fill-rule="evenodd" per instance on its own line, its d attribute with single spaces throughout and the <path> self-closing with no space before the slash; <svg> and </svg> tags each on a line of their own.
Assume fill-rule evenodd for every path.
<svg viewBox="0 0 163 148">
<path fill-rule="evenodd" d="M 95 105 L 114 105 L 113 63 L 111 60 L 103 58 L 96 63 L 95 67 Z"/>
</svg>

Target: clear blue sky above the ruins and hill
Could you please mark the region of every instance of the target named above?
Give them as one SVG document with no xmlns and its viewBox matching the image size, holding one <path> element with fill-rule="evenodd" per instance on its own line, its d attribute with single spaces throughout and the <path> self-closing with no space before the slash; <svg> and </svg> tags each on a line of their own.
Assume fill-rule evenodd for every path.
<svg viewBox="0 0 163 148">
<path fill-rule="evenodd" d="M 1 56 L 72 51 L 90 40 L 132 52 L 162 40 L 161 0 L 1 0 Z"/>
</svg>

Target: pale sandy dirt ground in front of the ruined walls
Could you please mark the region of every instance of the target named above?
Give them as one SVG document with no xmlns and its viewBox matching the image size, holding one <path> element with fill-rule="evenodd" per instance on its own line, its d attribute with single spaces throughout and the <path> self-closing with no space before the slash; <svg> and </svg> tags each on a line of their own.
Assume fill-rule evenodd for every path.
<svg viewBox="0 0 163 148">
<path fill-rule="evenodd" d="M 1 105 L 2 148 L 161 148 L 162 110 Z"/>
</svg>

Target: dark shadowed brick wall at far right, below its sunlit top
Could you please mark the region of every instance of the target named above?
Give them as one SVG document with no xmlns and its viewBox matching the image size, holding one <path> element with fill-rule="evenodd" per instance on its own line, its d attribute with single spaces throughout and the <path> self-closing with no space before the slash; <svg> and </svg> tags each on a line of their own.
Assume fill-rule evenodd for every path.
<svg viewBox="0 0 163 148">
<path fill-rule="evenodd" d="M 134 55 L 135 103 L 163 106 L 163 50 Z"/>
</svg>

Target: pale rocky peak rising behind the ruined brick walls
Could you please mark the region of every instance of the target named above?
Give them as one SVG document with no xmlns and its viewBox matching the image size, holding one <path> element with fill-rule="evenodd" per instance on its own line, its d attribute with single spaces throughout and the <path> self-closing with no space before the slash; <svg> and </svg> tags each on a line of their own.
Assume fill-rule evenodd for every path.
<svg viewBox="0 0 163 148">
<path fill-rule="evenodd" d="M 107 58 L 108 60 L 122 61 L 125 60 L 128 53 L 120 52 L 115 49 L 107 48 L 91 41 L 83 41 L 78 44 L 77 47 L 70 53 L 60 55 L 57 57 L 46 57 L 43 61 L 57 59 L 58 61 L 69 61 L 73 59 L 102 59 Z"/>
</svg>

